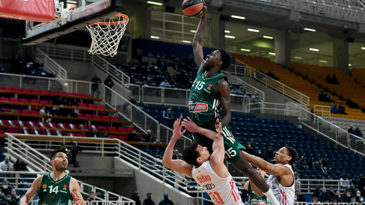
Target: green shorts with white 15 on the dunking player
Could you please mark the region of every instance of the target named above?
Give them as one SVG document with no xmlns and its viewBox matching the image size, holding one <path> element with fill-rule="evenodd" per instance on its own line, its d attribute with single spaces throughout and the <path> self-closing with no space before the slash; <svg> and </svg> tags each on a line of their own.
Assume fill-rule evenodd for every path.
<svg viewBox="0 0 365 205">
<path fill-rule="evenodd" d="M 213 131 L 215 131 L 215 129 Z M 226 150 L 224 160 L 227 160 L 230 163 L 237 161 L 239 159 L 240 150 L 245 150 L 246 148 L 243 147 L 241 143 L 237 142 L 237 140 L 232 138 L 228 125 L 223 128 L 222 136 L 224 137 L 224 150 Z M 196 132 L 193 134 L 193 140 L 201 146 L 207 147 L 210 154 L 213 152 L 213 140 Z"/>
</svg>

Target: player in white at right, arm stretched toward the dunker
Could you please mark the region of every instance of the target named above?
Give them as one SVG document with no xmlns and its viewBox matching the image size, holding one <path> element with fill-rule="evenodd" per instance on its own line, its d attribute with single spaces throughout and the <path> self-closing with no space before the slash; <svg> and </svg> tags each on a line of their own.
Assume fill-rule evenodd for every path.
<svg viewBox="0 0 365 205">
<path fill-rule="evenodd" d="M 294 173 L 291 165 L 297 158 L 295 149 L 289 146 L 281 148 L 275 153 L 273 159 L 274 164 L 266 162 L 266 160 L 257 156 L 247 154 L 246 152 L 244 152 L 244 154 L 249 163 L 270 174 L 266 183 L 274 193 L 276 199 L 284 205 L 294 204 Z M 264 195 L 254 184 L 251 186 L 257 196 Z M 269 199 L 268 204 L 272 204 Z"/>
</svg>

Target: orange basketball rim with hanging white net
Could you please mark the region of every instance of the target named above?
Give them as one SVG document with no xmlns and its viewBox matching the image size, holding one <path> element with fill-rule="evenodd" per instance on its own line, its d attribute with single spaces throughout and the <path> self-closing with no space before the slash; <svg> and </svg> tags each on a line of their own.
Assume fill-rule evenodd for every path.
<svg viewBox="0 0 365 205">
<path fill-rule="evenodd" d="M 119 13 L 115 17 L 119 17 L 117 22 L 110 18 L 109 22 L 104 20 L 86 27 L 90 31 L 92 39 L 89 53 L 110 55 L 111 57 L 116 55 L 120 39 L 126 30 L 128 16 Z"/>
</svg>

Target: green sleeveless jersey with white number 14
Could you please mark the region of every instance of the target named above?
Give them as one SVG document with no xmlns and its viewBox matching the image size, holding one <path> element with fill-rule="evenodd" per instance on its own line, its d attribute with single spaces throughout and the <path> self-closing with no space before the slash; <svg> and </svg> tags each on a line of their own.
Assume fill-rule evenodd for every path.
<svg viewBox="0 0 365 205">
<path fill-rule="evenodd" d="M 44 174 L 39 187 L 38 205 L 72 205 L 69 175 L 53 181 L 50 173 Z"/>
</svg>

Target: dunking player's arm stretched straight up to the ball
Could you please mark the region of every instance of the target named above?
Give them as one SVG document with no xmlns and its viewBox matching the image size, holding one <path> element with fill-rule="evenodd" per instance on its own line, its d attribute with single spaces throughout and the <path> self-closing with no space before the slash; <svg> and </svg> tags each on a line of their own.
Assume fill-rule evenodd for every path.
<svg viewBox="0 0 365 205">
<path fill-rule="evenodd" d="M 205 62 L 203 54 L 203 43 L 204 43 L 205 22 L 207 20 L 207 6 L 205 5 L 204 0 L 203 3 L 204 3 L 204 11 L 200 15 L 201 19 L 193 39 L 194 61 L 196 66 L 198 67 L 197 73 L 199 73 L 203 69 Z"/>
</svg>

